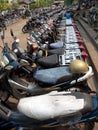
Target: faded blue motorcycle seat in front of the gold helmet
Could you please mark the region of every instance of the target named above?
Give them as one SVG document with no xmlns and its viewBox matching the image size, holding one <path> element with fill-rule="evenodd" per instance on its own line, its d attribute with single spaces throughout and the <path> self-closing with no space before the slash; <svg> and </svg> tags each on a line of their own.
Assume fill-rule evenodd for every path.
<svg viewBox="0 0 98 130">
<path fill-rule="evenodd" d="M 34 74 L 34 79 L 45 85 L 55 85 L 72 80 L 73 74 L 68 66 L 55 67 L 38 70 Z"/>
</svg>

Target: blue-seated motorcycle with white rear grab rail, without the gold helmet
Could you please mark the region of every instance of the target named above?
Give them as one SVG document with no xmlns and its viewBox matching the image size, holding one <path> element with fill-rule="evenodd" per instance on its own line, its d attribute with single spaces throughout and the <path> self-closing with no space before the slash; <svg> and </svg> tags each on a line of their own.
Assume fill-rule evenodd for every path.
<svg viewBox="0 0 98 130">
<path fill-rule="evenodd" d="M 93 75 L 92 67 L 90 66 L 87 66 L 86 74 L 81 74 L 81 71 L 75 74 L 73 73 L 74 70 L 69 66 L 51 68 L 50 70 L 38 70 L 32 76 L 32 78 L 34 78 L 33 82 L 28 83 L 23 79 L 23 76 L 22 78 L 19 77 L 19 75 L 17 76 L 19 70 L 24 70 L 24 67 L 21 66 L 17 60 L 13 59 L 11 53 L 7 52 L 5 55 L 4 53 L 1 55 L 0 65 L 2 88 L 8 93 L 7 97 L 3 97 L 4 101 L 7 100 L 10 95 L 16 99 L 20 99 L 21 97 L 41 95 L 54 90 L 66 91 L 72 89 L 72 91 L 91 91 L 86 84 L 86 80 Z M 25 70 L 25 72 L 26 71 L 27 70 Z"/>
</svg>

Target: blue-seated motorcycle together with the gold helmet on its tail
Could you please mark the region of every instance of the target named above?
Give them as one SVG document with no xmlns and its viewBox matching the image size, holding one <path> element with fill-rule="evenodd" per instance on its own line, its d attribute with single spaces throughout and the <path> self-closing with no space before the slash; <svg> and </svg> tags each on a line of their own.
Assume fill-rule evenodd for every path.
<svg viewBox="0 0 98 130">
<path fill-rule="evenodd" d="M 17 61 L 8 46 L 4 46 L 2 49 L 0 66 L 7 75 L 3 77 L 3 73 L 1 73 L 1 77 L 7 77 L 10 84 L 8 92 L 17 99 L 24 96 L 40 95 L 53 90 L 62 91 L 71 88 L 80 89 L 81 91 L 90 90 L 86 86 L 86 80 L 93 75 L 92 67 L 81 60 L 73 61 L 70 66 L 36 70 L 30 75 L 31 73 Z M 33 82 L 26 82 L 23 74 L 33 78 Z M 85 89 L 82 87 L 84 84 Z"/>
</svg>

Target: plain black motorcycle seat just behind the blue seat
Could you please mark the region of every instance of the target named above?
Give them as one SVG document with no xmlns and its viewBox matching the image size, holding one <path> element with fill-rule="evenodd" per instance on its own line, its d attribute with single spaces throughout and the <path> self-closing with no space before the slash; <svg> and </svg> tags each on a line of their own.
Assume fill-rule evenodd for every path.
<svg viewBox="0 0 98 130">
<path fill-rule="evenodd" d="M 56 54 L 47 57 L 42 57 L 37 60 L 37 63 L 42 67 L 52 68 L 59 65 L 59 57 Z"/>
</svg>

